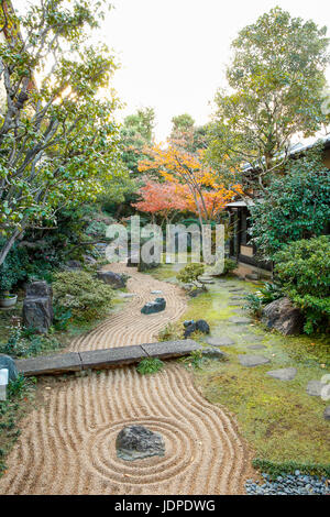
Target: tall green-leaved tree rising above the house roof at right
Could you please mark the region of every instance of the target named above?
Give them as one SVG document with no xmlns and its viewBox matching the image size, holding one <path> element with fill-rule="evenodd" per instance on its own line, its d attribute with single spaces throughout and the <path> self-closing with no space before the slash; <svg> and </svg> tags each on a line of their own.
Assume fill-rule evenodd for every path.
<svg viewBox="0 0 330 517">
<path fill-rule="evenodd" d="M 283 169 L 294 135 L 314 135 L 324 122 L 326 33 L 275 8 L 233 41 L 230 89 L 216 96 L 208 156 L 245 194 L 263 191 Z"/>
</svg>

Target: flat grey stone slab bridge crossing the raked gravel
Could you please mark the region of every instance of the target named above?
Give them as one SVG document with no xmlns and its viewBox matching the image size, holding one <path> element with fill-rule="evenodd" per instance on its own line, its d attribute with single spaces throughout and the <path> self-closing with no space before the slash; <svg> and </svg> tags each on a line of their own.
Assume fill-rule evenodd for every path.
<svg viewBox="0 0 330 517">
<path fill-rule="evenodd" d="M 61 375 L 82 370 L 105 370 L 140 362 L 145 358 L 172 359 L 188 355 L 201 346 L 191 339 L 134 344 L 86 352 L 69 352 L 56 355 L 15 361 L 19 373 L 26 377 Z"/>
</svg>

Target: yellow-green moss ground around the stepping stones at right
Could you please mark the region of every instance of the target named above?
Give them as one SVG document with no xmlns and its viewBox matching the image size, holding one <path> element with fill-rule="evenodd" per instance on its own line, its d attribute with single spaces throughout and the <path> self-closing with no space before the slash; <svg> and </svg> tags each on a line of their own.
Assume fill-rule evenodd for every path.
<svg viewBox="0 0 330 517">
<path fill-rule="evenodd" d="M 176 265 L 175 270 L 178 267 Z M 175 282 L 172 265 L 152 272 L 158 279 Z M 182 318 L 208 321 L 212 337 L 229 337 L 233 345 L 221 346 L 228 361 L 206 361 L 195 371 L 196 385 L 213 404 L 226 406 L 237 416 L 242 435 L 255 457 L 273 463 L 330 464 L 330 422 L 323 418 L 329 400 L 309 396 L 307 383 L 330 373 L 330 343 L 323 337 L 284 337 L 270 332 L 253 320 L 250 324 L 229 321 L 233 316 L 248 316 L 244 293 L 256 285 L 238 279 L 215 280 L 208 292 L 188 301 Z M 233 290 L 230 289 L 241 289 Z M 234 301 L 235 298 L 239 298 Z M 205 341 L 200 336 L 199 340 Z M 262 344 L 265 349 L 251 350 Z M 262 354 L 270 364 L 241 366 L 238 354 Z M 270 377 L 266 372 L 287 366 L 297 369 L 293 381 Z"/>
</svg>

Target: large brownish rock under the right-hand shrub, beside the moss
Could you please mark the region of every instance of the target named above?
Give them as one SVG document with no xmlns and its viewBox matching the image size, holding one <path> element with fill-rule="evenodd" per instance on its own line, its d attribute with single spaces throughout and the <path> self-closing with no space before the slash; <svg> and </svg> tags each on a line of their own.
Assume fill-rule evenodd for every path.
<svg viewBox="0 0 330 517">
<path fill-rule="evenodd" d="M 289 336 L 301 332 L 304 317 L 289 298 L 285 297 L 264 307 L 262 322 L 270 329 L 276 329 L 284 336 Z"/>
</svg>

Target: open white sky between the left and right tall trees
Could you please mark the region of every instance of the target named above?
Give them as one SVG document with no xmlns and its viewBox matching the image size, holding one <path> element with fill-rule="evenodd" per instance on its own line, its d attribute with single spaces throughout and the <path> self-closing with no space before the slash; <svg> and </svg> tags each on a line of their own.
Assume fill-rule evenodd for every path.
<svg viewBox="0 0 330 517">
<path fill-rule="evenodd" d="M 294 16 L 330 28 L 329 0 L 112 0 L 99 35 L 119 55 L 113 86 L 127 108 L 156 111 L 156 139 L 164 141 L 173 116 L 205 123 L 239 30 L 280 6 Z M 330 32 L 330 30 L 328 29 Z M 330 34 L 329 34 L 330 36 Z M 330 82 L 330 69 L 327 74 Z"/>
</svg>

